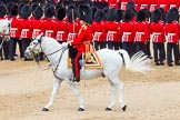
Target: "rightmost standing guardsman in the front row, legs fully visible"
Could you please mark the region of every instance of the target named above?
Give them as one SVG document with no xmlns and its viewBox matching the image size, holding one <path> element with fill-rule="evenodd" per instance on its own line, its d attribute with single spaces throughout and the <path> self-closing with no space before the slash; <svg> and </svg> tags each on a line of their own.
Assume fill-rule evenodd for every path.
<svg viewBox="0 0 180 120">
<path fill-rule="evenodd" d="M 179 24 L 176 21 L 177 13 L 173 9 L 170 9 L 167 13 L 167 23 L 164 26 L 166 40 L 167 40 L 167 59 L 168 66 L 172 67 L 172 50 L 174 56 L 174 64 L 180 66 L 179 63 L 179 48 L 178 48 L 178 39 L 179 39 Z"/>
</svg>

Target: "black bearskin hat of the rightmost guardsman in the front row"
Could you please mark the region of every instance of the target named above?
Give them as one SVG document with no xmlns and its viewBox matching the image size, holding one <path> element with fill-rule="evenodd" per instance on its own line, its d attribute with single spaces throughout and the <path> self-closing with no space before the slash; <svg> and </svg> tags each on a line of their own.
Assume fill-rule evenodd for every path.
<svg viewBox="0 0 180 120">
<path fill-rule="evenodd" d="M 167 22 L 172 22 L 177 20 L 177 12 L 173 9 L 170 9 L 167 13 Z"/>
</svg>

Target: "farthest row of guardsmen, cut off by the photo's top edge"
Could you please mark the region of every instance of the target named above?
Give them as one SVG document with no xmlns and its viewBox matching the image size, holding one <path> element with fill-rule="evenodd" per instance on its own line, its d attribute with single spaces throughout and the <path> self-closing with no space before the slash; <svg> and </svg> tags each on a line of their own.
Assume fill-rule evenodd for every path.
<svg viewBox="0 0 180 120">
<path fill-rule="evenodd" d="M 171 8 L 179 9 L 180 0 L 54 0 L 56 2 L 63 3 L 64 6 L 74 3 L 90 3 L 92 7 L 102 9 L 104 7 L 126 10 L 128 3 L 131 2 L 134 4 L 134 9 L 139 11 L 140 9 L 148 9 L 153 11 L 154 9 L 161 7 L 166 11 Z"/>
</svg>

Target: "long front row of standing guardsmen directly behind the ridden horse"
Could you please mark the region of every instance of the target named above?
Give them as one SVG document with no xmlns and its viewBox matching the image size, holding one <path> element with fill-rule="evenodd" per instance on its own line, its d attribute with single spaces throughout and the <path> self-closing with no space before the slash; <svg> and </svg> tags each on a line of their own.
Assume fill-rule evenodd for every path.
<svg viewBox="0 0 180 120">
<path fill-rule="evenodd" d="M 80 28 L 80 20 L 77 18 L 74 6 L 69 6 L 68 10 L 66 10 L 62 6 L 54 8 L 49 4 L 44 8 L 44 14 L 40 6 L 32 9 L 29 4 L 23 3 L 19 6 L 16 3 L 11 4 L 8 9 L 9 16 L 6 16 L 6 7 L 0 4 L 0 19 L 11 20 L 10 49 L 9 52 L 6 52 L 9 54 L 4 54 L 10 57 L 12 61 L 14 60 L 17 42 L 20 46 L 20 57 L 24 58 L 23 52 L 31 39 L 34 39 L 41 32 L 62 43 L 67 40 L 73 40 Z M 162 21 L 166 13 L 162 8 L 158 8 L 152 12 L 151 23 L 147 21 L 150 14 L 148 9 L 139 10 L 137 14 L 133 9 L 122 11 L 113 8 L 109 9 L 107 13 L 101 9 L 97 10 L 94 21 L 91 24 L 92 41 L 96 50 L 106 47 L 114 50 L 122 48 L 129 54 L 142 50 L 150 56 L 149 43 L 151 38 L 156 64 L 164 64 L 164 42 L 167 42 L 168 66 L 172 66 L 172 49 L 174 64 L 179 66 L 178 40 L 180 38 L 180 26 L 177 22 L 177 8 L 168 11 L 166 23 Z"/>
</svg>

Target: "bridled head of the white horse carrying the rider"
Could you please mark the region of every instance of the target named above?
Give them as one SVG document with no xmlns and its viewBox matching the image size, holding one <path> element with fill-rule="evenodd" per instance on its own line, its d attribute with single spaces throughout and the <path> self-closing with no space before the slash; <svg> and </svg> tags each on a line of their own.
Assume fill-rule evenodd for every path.
<svg viewBox="0 0 180 120">
<path fill-rule="evenodd" d="M 42 52 L 42 48 L 41 48 L 41 41 L 42 41 L 42 37 L 43 34 L 39 34 L 31 43 L 30 46 L 27 48 L 24 56 L 29 59 L 32 58 L 33 54 L 38 54 L 40 52 Z"/>
</svg>

